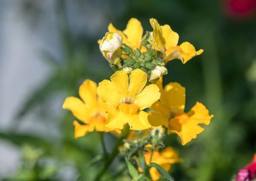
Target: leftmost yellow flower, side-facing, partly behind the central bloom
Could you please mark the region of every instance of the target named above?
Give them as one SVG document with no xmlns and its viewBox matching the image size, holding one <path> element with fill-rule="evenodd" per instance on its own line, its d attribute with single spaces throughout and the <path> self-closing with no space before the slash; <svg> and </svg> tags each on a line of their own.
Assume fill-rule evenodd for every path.
<svg viewBox="0 0 256 181">
<path fill-rule="evenodd" d="M 92 80 L 85 80 L 79 87 L 79 97 L 67 97 L 63 109 L 69 109 L 84 125 L 73 121 L 75 138 L 82 137 L 92 131 L 113 131 L 105 127 L 106 113 L 104 103 L 97 97 L 97 84 Z M 117 131 L 118 132 L 118 131 Z"/>
</svg>

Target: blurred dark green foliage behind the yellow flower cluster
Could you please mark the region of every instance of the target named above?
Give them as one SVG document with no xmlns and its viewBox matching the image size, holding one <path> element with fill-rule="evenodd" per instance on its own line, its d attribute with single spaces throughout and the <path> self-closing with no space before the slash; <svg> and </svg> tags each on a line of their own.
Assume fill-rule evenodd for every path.
<svg viewBox="0 0 256 181">
<path fill-rule="evenodd" d="M 28 97 L 17 113 L 18 119 L 33 107 L 47 104 L 51 101 L 48 98 L 55 94 L 64 94 L 63 99 L 77 96 L 77 87 L 86 78 L 100 81 L 111 74 L 106 60 L 100 55 L 97 39 L 86 35 L 73 38 L 66 1 L 57 2 L 64 59 L 58 62 L 45 52 L 45 59 L 52 68 L 51 76 Z M 112 11 L 118 9 L 115 3 L 106 2 Z M 83 6 L 90 1 L 73 3 Z M 106 12 L 109 22 L 119 29 L 125 27 L 130 17 L 137 17 L 144 29 L 150 30 L 148 19 L 154 17 L 178 32 L 180 42 L 187 40 L 205 50 L 187 64 L 181 64 L 179 60 L 168 63 L 169 74 L 164 78 L 164 82 L 178 81 L 187 88 L 187 110 L 200 101 L 215 115 L 210 126 L 188 145 L 181 146 L 176 135 L 170 135 L 166 140 L 166 145 L 175 147 L 184 160 L 182 164 L 172 166 L 174 180 L 230 180 L 256 151 L 255 16 L 232 19 L 224 13 L 222 1 L 131 0 L 123 1 L 123 4 L 125 8 L 120 15 Z M 33 5 L 29 7 L 31 13 L 36 13 L 32 11 Z M 76 18 L 79 21 L 83 17 Z M 107 27 L 102 29 L 98 38 L 102 38 L 106 31 Z M 1 139 L 23 147 L 24 153 L 20 170 L 5 180 L 59 180 L 58 173 L 66 166 L 75 168 L 78 180 L 94 178 L 102 159 L 98 156 L 102 154 L 98 135 L 91 133 L 73 139 L 73 117 L 67 111 L 61 113 L 61 139 L 57 143 L 56 140 L 20 134 L 15 129 L 0 133 Z M 108 135 L 105 141 L 111 147 L 115 137 Z M 51 164 L 47 160 L 51 160 Z M 127 174 L 124 168 L 117 160 L 104 180 L 129 180 L 123 175 Z"/>
</svg>

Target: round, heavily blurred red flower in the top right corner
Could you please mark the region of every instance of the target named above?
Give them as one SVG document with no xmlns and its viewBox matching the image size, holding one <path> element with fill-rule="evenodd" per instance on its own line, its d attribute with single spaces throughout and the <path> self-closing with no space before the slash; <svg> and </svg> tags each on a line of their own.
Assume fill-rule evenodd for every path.
<svg viewBox="0 0 256 181">
<path fill-rule="evenodd" d="M 224 9 L 228 15 L 246 18 L 255 15 L 256 0 L 224 0 Z"/>
</svg>

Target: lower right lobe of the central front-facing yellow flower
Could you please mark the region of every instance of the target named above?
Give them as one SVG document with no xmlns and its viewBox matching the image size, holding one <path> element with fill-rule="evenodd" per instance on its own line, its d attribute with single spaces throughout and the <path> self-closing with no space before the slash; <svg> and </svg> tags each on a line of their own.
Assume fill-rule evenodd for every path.
<svg viewBox="0 0 256 181">
<path fill-rule="evenodd" d="M 139 111 L 139 115 L 131 115 L 128 121 L 130 129 L 143 130 L 152 127 L 148 122 L 148 113 Z"/>
</svg>

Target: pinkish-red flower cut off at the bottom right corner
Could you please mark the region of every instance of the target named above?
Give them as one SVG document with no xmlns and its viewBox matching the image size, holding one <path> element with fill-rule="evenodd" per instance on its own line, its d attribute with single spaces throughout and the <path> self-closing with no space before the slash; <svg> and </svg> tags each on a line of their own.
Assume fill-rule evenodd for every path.
<svg viewBox="0 0 256 181">
<path fill-rule="evenodd" d="M 251 164 L 239 170 L 236 174 L 236 181 L 250 181 L 255 178 L 256 172 L 256 154 L 253 156 Z"/>
</svg>

